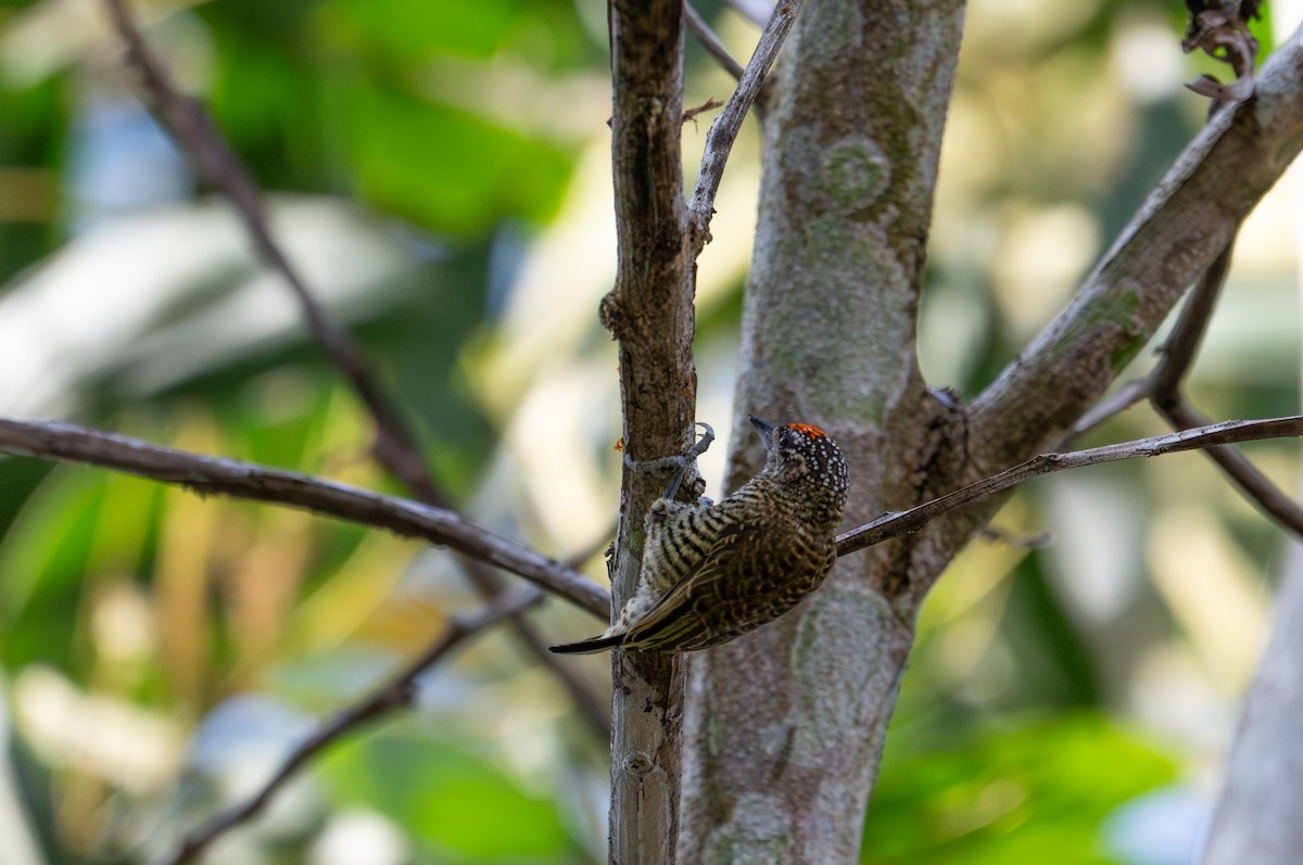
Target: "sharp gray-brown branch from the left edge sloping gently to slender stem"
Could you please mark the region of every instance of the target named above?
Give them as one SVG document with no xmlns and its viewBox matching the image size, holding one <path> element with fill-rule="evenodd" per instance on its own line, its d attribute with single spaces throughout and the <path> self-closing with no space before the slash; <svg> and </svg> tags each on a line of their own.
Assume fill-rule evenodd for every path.
<svg viewBox="0 0 1303 865">
<path fill-rule="evenodd" d="M 65 462 L 86 462 L 195 492 L 216 492 L 304 508 L 487 561 L 571 601 L 599 619 L 610 617 L 610 595 L 594 582 L 534 550 L 489 532 L 459 515 L 421 502 L 224 457 L 201 456 L 139 439 L 87 430 L 60 421 L 0 418 L 0 452 Z"/>
</svg>

